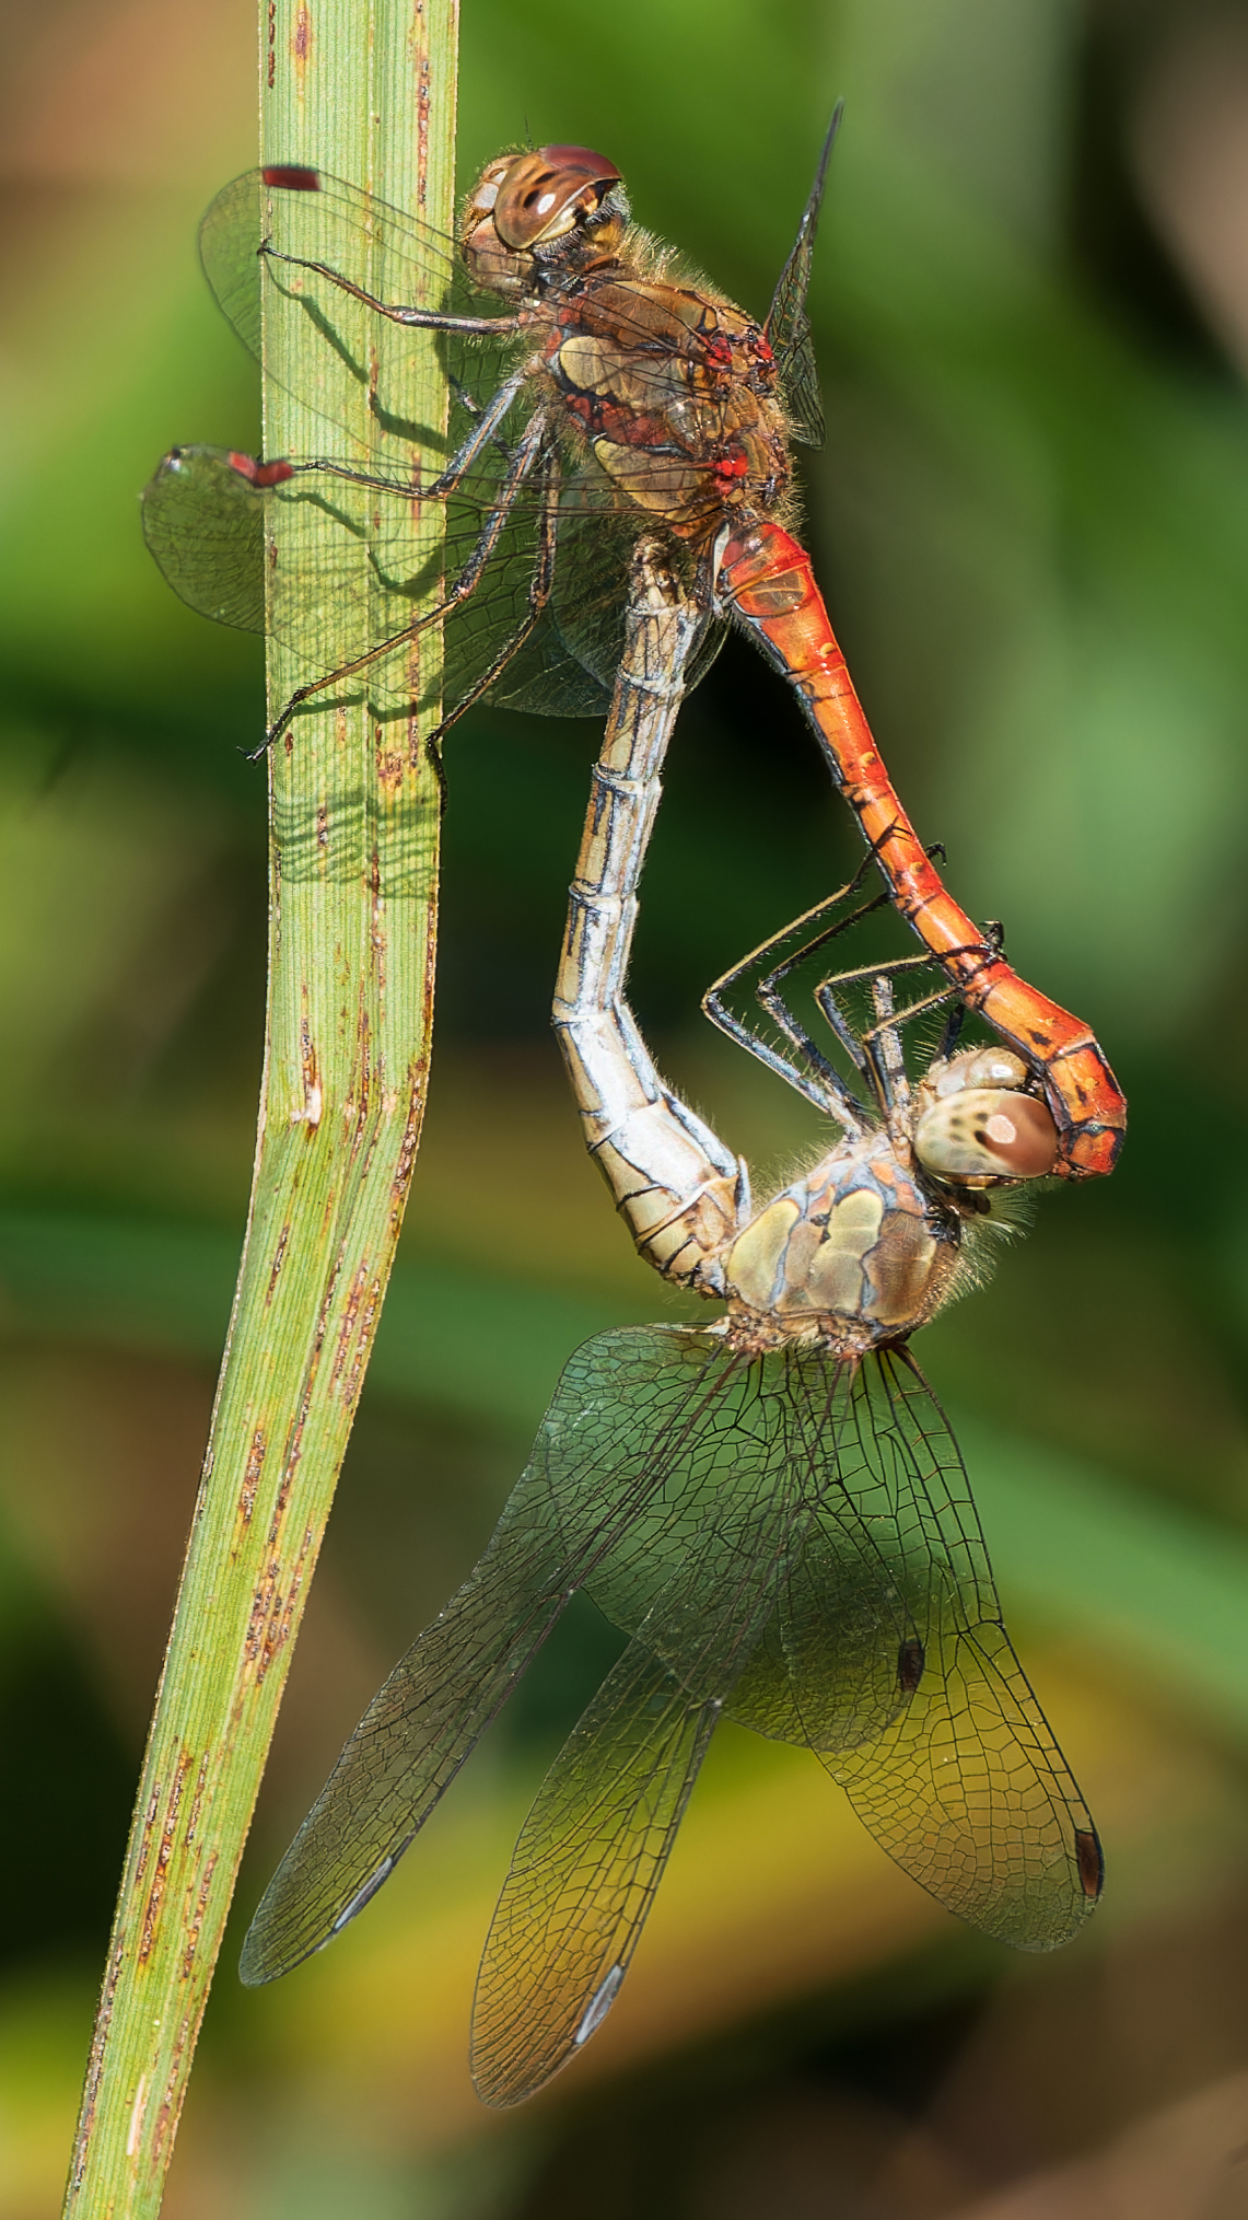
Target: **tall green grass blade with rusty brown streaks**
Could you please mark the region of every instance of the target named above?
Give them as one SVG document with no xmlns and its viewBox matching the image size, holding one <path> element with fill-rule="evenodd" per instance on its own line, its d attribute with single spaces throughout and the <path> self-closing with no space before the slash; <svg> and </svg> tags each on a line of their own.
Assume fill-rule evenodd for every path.
<svg viewBox="0 0 1248 2220">
<path fill-rule="evenodd" d="M 455 0 L 262 9 L 266 162 L 309 162 L 451 224 Z M 360 317 L 364 311 L 360 311 Z M 435 349 L 369 331 L 378 375 L 437 426 Z M 302 353 L 306 351 L 306 362 Z M 406 462 L 309 320 L 266 329 L 269 453 Z M 431 519 L 431 531 L 437 519 Z M 289 506 L 271 559 L 315 515 Z M 384 622 L 382 613 L 378 613 Z M 331 648 L 331 644 L 326 644 Z M 420 690 L 435 682 L 422 637 Z M 333 664 L 333 653 L 326 655 Z M 393 677 L 393 673 L 389 673 Z M 271 657 L 271 715 L 291 693 Z M 149 2216 L 195 2051 L 291 1647 L 386 1292 L 420 1137 L 433 995 L 440 793 L 404 675 L 380 710 L 344 688 L 271 766 L 269 1037 L 246 1248 L 178 1610 L 135 1803 L 67 2213 Z"/>
</svg>

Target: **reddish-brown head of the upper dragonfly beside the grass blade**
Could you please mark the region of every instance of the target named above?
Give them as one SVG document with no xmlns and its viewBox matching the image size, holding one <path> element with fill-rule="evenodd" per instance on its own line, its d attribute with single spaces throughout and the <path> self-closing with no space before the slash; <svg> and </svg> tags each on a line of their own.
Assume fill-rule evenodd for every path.
<svg viewBox="0 0 1248 2220">
<path fill-rule="evenodd" d="M 533 291 L 542 262 L 582 242 L 611 249 L 628 220 L 615 162 L 591 147 L 529 147 L 486 162 L 460 222 L 460 251 L 489 293 Z"/>
</svg>

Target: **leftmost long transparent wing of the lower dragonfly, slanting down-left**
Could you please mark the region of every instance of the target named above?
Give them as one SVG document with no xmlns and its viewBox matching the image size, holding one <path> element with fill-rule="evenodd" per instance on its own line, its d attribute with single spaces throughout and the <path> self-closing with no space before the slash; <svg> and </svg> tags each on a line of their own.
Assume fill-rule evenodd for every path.
<svg viewBox="0 0 1248 2220">
<path fill-rule="evenodd" d="M 269 1883 L 246 1982 L 322 1949 L 389 1878 L 568 1596 L 680 1492 L 735 1370 L 722 1343 L 675 1328 L 597 1334 L 568 1359 L 484 1556 L 369 1705 Z"/>
</svg>

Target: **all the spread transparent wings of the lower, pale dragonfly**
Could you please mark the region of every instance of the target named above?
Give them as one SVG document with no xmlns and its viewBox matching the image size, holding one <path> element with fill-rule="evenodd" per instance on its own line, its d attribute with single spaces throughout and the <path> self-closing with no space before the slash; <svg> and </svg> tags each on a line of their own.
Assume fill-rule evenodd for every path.
<svg viewBox="0 0 1248 2220">
<path fill-rule="evenodd" d="M 817 1749 L 882 1847 L 988 1934 L 1048 1949 L 1090 1909 L 1090 1818 L 910 1361 L 744 1361 L 637 1328 L 566 1365 L 480 1567 L 271 1883 L 249 1980 L 382 1885 L 577 1587 L 633 1641 L 537 1794 L 491 1927 L 473 2045 L 489 2102 L 537 2089 L 608 2009 L 724 1709 Z"/>
</svg>

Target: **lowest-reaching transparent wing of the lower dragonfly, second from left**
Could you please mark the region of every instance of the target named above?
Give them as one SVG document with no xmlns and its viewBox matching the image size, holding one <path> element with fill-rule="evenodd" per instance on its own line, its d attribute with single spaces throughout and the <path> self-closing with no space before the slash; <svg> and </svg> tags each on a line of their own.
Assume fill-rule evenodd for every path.
<svg viewBox="0 0 1248 2220">
<path fill-rule="evenodd" d="M 704 1532 L 555 1758 L 491 1923 L 473 2080 L 517 2105 L 602 2025 L 724 1703 L 799 1538 L 788 1487 L 700 1494 Z"/>
</svg>

